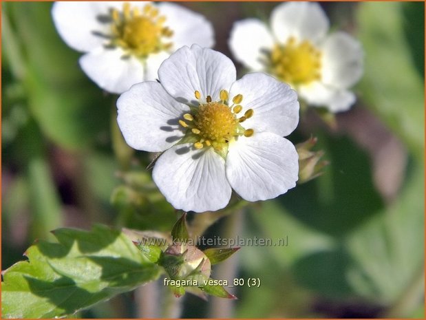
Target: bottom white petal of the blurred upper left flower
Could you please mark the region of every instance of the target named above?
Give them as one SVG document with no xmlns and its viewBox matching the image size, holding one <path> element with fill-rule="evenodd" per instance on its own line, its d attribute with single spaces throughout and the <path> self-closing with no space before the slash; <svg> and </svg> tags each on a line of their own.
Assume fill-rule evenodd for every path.
<svg viewBox="0 0 426 320">
<path fill-rule="evenodd" d="M 120 49 L 100 47 L 82 56 L 80 65 L 94 83 L 114 94 L 143 81 L 142 63 L 133 56 L 125 57 Z"/>
</svg>

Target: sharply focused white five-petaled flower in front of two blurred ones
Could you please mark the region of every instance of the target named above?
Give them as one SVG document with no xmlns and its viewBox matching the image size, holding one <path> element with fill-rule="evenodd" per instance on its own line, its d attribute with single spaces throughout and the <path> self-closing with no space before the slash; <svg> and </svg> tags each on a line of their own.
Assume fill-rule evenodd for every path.
<svg viewBox="0 0 426 320">
<path fill-rule="evenodd" d="M 158 76 L 118 98 L 118 125 L 134 149 L 165 150 L 153 180 L 176 209 L 222 209 L 231 188 L 256 201 L 295 186 L 297 152 L 282 137 L 297 127 L 299 103 L 288 85 L 261 72 L 235 81 L 229 58 L 198 45 Z"/>
</svg>

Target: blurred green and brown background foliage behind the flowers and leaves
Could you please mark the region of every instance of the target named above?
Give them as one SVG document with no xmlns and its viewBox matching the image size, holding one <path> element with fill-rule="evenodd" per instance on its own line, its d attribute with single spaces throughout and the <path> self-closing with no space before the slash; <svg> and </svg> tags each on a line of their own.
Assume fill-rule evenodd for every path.
<svg viewBox="0 0 426 320">
<path fill-rule="evenodd" d="M 215 50 L 228 56 L 233 22 L 268 21 L 277 5 L 181 4 L 213 23 Z M 52 3 L 1 6 L 2 270 L 60 226 L 170 231 L 179 213 L 151 182 L 150 156 L 123 144 L 117 96 L 83 74 L 81 54 L 54 28 Z M 321 177 L 206 232 L 287 237 L 287 246 L 244 246 L 213 268 L 215 279 L 259 278 L 259 288 L 234 288 L 237 301 L 186 295 L 173 301 L 175 314 L 424 318 L 424 3 L 321 6 L 333 30 L 354 34 L 365 50 L 359 99 L 337 115 L 337 128 L 311 110 L 289 137 L 298 143 L 317 136 L 330 165 Z M 150 284 L 78 317 L 143 317 L 149 301 L 162 308 L 162 290 Z"/>
</svg>

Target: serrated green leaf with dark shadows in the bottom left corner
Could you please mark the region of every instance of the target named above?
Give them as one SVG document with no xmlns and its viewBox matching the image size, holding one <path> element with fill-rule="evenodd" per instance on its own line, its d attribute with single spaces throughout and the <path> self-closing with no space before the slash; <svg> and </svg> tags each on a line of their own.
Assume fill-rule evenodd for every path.
<svg viewBox="0 0 426 320">
<path fill-rule="evenodd" d="M 34 244 L 25 253 L 29 261 L 4 273 L 3 317 L 66 317 L 160 275 L 120 231 L 61 228 L 54 235 L 58 243 Z"/>
</svg>

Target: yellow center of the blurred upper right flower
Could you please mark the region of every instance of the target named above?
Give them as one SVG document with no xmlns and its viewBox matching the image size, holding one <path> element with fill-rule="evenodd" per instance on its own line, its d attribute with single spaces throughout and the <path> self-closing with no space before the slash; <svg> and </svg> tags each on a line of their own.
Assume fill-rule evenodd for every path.
<svg viewBox="0 0 426 320">
<path fill-rule="evenodd" d="M 270 52 L 270 72 L 290 85 L 306 85 L 321 78 L 321 52 L 309 41 L 290 37 Z"/>
</svg>

